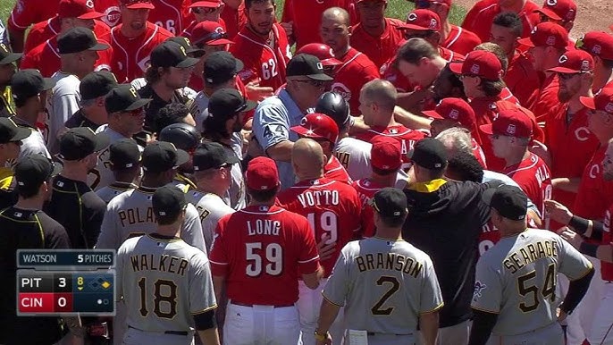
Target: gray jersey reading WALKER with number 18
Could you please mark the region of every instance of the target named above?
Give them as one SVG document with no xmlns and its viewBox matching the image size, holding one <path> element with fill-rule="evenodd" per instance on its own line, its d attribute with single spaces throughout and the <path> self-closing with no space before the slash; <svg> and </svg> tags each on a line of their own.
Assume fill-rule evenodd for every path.
<svg viewBox="0 0 613 345">
<path fill-rule="evenodd" d="M 117 251 L 116 286 L 127 323 L 141 331 L 189 331 L 194 315 L 217 307 L 206 254 L 180 239 L 126 240 Z"/>
</svg>

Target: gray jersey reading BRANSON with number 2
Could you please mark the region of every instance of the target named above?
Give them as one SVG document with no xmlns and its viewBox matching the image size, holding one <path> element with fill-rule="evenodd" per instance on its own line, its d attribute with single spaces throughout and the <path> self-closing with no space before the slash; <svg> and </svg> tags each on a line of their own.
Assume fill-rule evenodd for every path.
<svg viewBox="0 0 613 345">
<path fill-rule="evenodd" d="M 442 307 L 432 259 L 405 240 L 370 238 L 340 252 L 323 297 L 345 305 L 347 328 L 416 332 L 419 315 Z"/>
</svg>

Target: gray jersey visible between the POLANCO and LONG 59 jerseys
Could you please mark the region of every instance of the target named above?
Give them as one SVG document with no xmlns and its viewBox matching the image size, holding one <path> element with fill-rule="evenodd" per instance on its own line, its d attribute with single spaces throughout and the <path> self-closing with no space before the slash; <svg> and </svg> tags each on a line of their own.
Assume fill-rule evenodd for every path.
<svg viewBox="0 0 613 345">
<path fill-rule="evenodd" d="M 210 249 L 213 244 L 215 227 L 217 227 L 219 220 L 224 215 L 230 215 L 236 211 L 214 193 L 192 190 L 186 197 L 190 203 L 196 206 L 202 224 L 202 233 L 205 236 L 206 249 Z"/>
</svg>

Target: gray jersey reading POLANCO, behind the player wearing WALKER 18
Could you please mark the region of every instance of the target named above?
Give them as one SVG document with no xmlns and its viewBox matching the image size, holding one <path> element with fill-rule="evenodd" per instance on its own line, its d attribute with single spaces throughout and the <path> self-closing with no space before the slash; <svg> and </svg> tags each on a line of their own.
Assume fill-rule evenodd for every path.
<svg viewBox="0 0 613 345">
<path fill-rule="evenodd" d="M 97 248 L 119 248 L 130 237 L 154 232 L 157 225 L 151 198 L 155 188 L 130 189 L 113 198 L 106 206 L 105 218 L 100 227 Z M 188 204 L 185 221 L 181 226 L 181 239 L 206 253 L 202 226 L 196 207 Z"/>
</svg>

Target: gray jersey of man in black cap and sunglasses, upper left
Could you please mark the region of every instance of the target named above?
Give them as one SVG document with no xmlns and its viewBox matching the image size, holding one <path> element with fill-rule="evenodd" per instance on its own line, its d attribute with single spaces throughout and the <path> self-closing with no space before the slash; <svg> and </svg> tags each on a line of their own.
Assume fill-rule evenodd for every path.
<svg viewBox="0 0 613 345">
<path fill-rule="evenodd" d="M 80 80 L 74 74 L 55 72 L 51 79 L 55 87 L 46 96 L 47 147 L 52 155 L 60 151 L 59 140 L 65 127 L 63 125 L 80 106 Z"/>
</svg>

